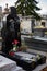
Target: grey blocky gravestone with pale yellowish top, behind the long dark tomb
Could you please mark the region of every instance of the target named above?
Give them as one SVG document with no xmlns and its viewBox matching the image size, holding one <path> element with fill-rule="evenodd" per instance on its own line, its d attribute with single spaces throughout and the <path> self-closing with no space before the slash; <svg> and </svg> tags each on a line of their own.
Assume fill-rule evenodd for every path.
<svg viewBox="0 0 47 71">
<path fill-rule="evenodd" d="M 44 37 L 45 36 L 45 27 L 43 27 L 43 26 L 34 27 L 34 36 Z"/>
</svg>

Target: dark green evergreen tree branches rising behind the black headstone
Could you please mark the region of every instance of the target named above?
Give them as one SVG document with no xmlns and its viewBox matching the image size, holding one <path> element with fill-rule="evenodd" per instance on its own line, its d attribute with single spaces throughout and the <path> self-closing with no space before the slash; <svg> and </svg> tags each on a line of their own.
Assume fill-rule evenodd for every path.
<svg viewBox="0 0 47 71">
<path fill-rule="evenodd" d="M 40 10 L 40 8 L 38 8 L 36 4 L 38 4 L 36 0 L 17 0 L 15 2 L 19 14 L 33 15 L 36 19 L 40 19 L 40 16 L 36 13 L 36 11 Z"/>
</svg>

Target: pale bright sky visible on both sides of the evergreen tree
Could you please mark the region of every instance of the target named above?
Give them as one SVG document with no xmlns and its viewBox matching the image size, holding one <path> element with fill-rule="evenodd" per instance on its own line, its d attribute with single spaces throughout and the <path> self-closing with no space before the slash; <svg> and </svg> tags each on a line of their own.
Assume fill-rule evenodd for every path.
<svg viewBox="0 0 47 71">
<path fill-rule="evenodd" d="M 0 5 L 2 5 L 2 8 L 4 9 L 5 3 L 9 3 L 10 5 L 14 5 L 14 2 L 16 0 L 0 0 Z M 47 14 L 47 0 L 36 0 L 39 3 L 37 4 L 42 10 L 38 11 L 38 13 L 46 13 Z"/>
</svg>

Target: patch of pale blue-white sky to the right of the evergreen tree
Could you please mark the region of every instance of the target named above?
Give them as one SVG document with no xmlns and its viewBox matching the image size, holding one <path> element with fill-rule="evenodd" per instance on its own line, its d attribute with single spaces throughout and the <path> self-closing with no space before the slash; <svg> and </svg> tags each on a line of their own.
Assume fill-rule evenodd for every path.
<svg viewBox="0 0 47 71">
<path fill-rule="evenodd" d="M 39 2 L 38 7 L 42 9 L 38 12 L 47 14 L 47 0 L 37 0 L 37 1 Z"/>
</svg>

